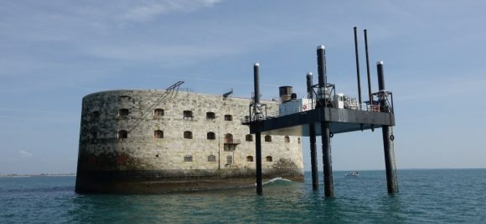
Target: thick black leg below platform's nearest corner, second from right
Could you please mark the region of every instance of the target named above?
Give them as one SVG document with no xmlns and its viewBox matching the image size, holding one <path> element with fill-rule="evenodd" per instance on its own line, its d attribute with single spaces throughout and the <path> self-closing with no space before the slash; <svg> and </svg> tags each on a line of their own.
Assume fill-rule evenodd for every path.
<svg viewBox="0 0 486 224">
<path fill-rule="evenodd" d="M 322 165 L 324 166 L 324 193 L 326 197 L 334 197 L 333 163 L 331 160 L 331 140 L 329 122 L 320 123 L 322 139 Z"/>
</svg>

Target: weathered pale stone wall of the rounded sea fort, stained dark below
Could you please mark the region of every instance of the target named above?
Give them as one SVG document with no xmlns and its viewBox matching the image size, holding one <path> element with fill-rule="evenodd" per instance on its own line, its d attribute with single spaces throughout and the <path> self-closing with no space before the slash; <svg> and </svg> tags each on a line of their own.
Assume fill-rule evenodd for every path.
<svg viewBox="0 0 486 224">
<path fill-rule="evenodd" d="M 90 188 L 90 185 L 96 184 L 95 179 L 111 177 L 111 184 L 120 180 L 254 180 L 255 136 L 252 135 L 253 141 L 246 141 L 249 128 L 240 124 L 240 119 L 249 113 L 249 99 L 223 100 L 222 96 L 207 94 L 165 93 L 120 90 L 83 98 L 77 191 Z M 264 103 L 269 113 L 278 111 L 277 102 Z M 120 109 L 128 109 L 128 115 L 123 115 L 124 111 Z M 163 109 L 164 115 L 157 115 L 154 109 Z M 192 117 L 184 117 L 184 111 L 191 111 Z M 215 118 L 207 118 L 207 112 L 215 113 Z M 231 115 L 232 120 L 225 120 L 225 115 Z M 120 138 L 123 136 L 120 130 L 127 131 L 127 138 Z M 163 131 L 163 138 L 155 138 L 156 130 Z M 192 139 L 184 138 L 185 131 L 192 132 Z M 215 133 L 214 140 L 207 138 L 208 132 Z M 225 138 L 227 133 L 232 135 L 232 141 Z M 284 136 L 271 136 L 271 142 L 264 139 L 262 136 L 264 177 L 284 176 L 302 180 L 300 137 L 290 136 L 288 142 Z M 192 161 L 185 161 L 186 156 L 192 156 Z M 209 156 L 214 156 L 215 161 L 209 161 Z M 249 156 L 253 161 L 247 158 Z M 271 161 L 266 160 L 267 156 L 272 157 Z M 102 176 L 91 178 L 100 173 Z"/>
</svg>

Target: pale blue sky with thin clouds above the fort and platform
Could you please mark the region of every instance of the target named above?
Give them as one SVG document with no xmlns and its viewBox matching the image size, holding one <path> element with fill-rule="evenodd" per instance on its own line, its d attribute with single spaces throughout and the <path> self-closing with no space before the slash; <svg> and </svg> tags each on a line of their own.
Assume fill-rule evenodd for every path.
<svg viewBox="0 0 486 224">
<path fill-rule="evenodd" d="M 398 168 L 484 168 L 485 8 L 418 0 L 2 1 L 0 174 L 75 172 L 82 98 L 98 91 L 183 80 L 191 91 L 233 88 L 250 97 L 258 62 L 264 99 L 277 98 L 280 85 L 303 97 L 323 44 L 328 81 L 356 97 L 353 26 L 363 96 L 363 29 L 374 92 L 375 63 L 384 61 Z M 384 169 L 381 129 L 335 135 L 332 156 L 334 170 Z"/>
</svg>

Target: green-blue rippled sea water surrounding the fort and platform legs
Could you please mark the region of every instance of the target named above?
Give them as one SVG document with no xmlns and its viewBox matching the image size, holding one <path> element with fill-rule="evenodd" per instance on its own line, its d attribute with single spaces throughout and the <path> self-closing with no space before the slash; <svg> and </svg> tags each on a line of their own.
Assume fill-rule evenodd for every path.
<svg viewBox="0 0 486 224">
<path fill-rule="evenodd" d="M 486 223 L 486 169 L 334 172 L 335 197 L 305 182 L 159 195 L 74 193 L 74 176 L 0 177 L 0 223 Z"/>
</svg>

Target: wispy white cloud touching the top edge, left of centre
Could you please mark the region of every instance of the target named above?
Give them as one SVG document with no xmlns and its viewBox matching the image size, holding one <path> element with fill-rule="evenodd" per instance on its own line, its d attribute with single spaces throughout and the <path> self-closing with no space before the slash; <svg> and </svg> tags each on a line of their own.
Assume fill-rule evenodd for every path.
<svg viewBox="0 0 486 224">
<path fill-rule="evenodd" d="M 192 12 L 201 7 L 211 7 L 221 0 L 164 0 L 148 1 L 132 7 L 123 18 L 131 21 L 148 21 L 170 12 Z"/>
</svg>

